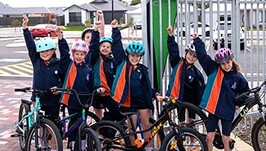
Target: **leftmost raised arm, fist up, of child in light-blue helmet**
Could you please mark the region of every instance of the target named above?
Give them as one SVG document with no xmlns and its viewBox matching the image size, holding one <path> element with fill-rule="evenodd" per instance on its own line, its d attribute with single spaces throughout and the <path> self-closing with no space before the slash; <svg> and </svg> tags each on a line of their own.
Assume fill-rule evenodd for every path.
<svg viewBox="0 0 266 151">
<path fill-rule="evenodd" d="M 34 63 L 39 58 L 39 54 L 36 51 L 36 44 L 29 31 L 28 22 L 29 22 L 29 18 L 27 16 L 24 16 L 22 19 L 23 36 L 26 42 L 26 46 L 29 52 L 29 57 L 31 59 L 31 62 Z"/>
</svg>

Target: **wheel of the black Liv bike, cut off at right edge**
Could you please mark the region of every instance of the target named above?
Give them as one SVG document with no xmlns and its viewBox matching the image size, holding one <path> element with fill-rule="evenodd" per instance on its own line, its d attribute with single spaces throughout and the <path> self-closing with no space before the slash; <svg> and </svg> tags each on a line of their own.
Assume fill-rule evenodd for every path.
<svg viewBox="0 0 266 151">
<path fill-rule="evenodd" d="M 262 131 L 263 134 L 260 135 L 260 131 Z M 255 122 L 251 132 L 251 142 L 255 151 L 261 151 L 266 149 L 265 144 L 259 143 L 264 141 L 265 132 L 266 132 L 266 121 L 263 120 L 263 118 L 261 117 Z"/>
</svg>

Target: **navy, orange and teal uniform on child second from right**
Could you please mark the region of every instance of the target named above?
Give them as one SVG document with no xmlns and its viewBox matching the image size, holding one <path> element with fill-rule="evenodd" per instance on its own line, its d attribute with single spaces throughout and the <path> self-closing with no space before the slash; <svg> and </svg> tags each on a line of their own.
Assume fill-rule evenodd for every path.
<svg viewBox="0 0 266 151">
<path fill-rule="evenodd" d="M 177 98 L 181 102 L 189 102 L 199 105 L 205 88 L 204 78 L 201 72 L 194 66 L 188 64 L 185 58 L 181 58 L 179 47 L 174 36 L 168 36 L 167 46 L 169 61 L 173 69 L 166 96 Z M 181 109 L 178 114 L 179 121 L 185 120 L 185 110 Z M 189 118 L 195 118 L 194 111 L 189 111 Z"/>
</svg>

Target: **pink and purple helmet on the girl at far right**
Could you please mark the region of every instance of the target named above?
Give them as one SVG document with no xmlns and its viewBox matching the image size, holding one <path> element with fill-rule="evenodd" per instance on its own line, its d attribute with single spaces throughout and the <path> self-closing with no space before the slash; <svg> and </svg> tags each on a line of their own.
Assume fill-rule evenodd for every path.
<svg viewBox="0 0 266 151">
<path fill-rule="evenodd" d="M 224 63 L 234 58 L 233 52 L 229 48 L 221 48 L 217 50 L 214 60 L 217 63 Z"/>
</svg>

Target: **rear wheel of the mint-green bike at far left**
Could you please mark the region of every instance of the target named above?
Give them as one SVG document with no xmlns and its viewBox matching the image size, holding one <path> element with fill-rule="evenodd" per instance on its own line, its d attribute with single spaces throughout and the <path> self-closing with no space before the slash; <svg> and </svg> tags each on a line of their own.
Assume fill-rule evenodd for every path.
<svg viewBox="0 0 266 151">
<path fill-rule="evenodd" d="M 18 122 L 20 122 L 21 119 L 28 114 L 29 110 L 30 110 L 29 105 L 20 104 L 19 113 L 18 113 Z M 27 138 L 27 132 L 28 132 L 28 118 L 26 118 L 19 125 L 19 127 L 21 127 L 25 131 L 25 133 L 23 135 L 19 132 L 19 130 L 17 130 L 17 132 L 19 133 L 19 146 L 20 146 L 20 149 L 24 151 L 25 150 L 25 144 L 26 144 L 26 138 Z"/>
</svg>

